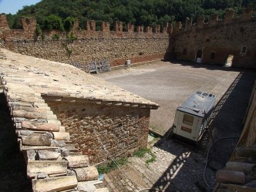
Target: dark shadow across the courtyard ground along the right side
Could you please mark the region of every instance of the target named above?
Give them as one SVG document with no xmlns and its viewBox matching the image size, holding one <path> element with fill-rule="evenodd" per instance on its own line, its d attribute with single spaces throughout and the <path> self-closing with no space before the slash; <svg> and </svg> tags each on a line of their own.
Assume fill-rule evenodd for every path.
<svg viewBox="0 0 256 192">
<path fill-rule="evenodd" d="M 201 64 L 199 66 L 193 64 L 193 67 L 201 67 Z M 214 66 L 206 67 L 207 69 L 214 69 Z M 220 67 L 217 68 L 220 69 Z M 155 147 L 174 154 L 176 159 L 170 163 L 170 166 L 159 180 L 153 184 L 153 188 L 170 192 L 210 191 L 206 184 L 204 184 L 203 177 L 206 150 L 216 140 L 224 137 L 240 136 L 255 77 L 256 73 L 254 71 L 240 72 L 239 76 L 237 76 L 217 103 L 214 109 L 214 118 L 209 126 L 210 128 L 203 136 L 198 147 L 193 148 L 176 143 L 173 140 L 168 141 L 168 132 L 155 144 Z M 227 162 L 236 143 L 237 139 L 231 138 L 221 140 L 211 148 L 206 170 L 206 180 L 211 188 L 214 187 L 216 170 L 221 169 Z M 184 145 L 182 147 L 183 150 L 177 150 L 180 148 L 180 145 Z M 190 177 L 187 177 L 187 174 L 190 174 Z M 190 183 L 188 180 L 190 180 Z M 193 185 L 191 185 L 191 182 Z M 186 187 L 188 184 L 190 186 Z M 189 188 L 190 190 L 188 190 Z"/>
</svg>

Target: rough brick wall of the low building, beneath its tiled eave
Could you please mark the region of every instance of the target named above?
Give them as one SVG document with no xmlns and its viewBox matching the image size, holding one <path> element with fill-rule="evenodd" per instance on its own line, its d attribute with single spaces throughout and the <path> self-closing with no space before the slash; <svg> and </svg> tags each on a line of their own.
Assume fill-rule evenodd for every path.
<svg viewBox="0 0 256 192">
<path fill-rule="evenodd" d="M 109 160 L 97 136 L 113 157 L 129 156 L 134 150 L 147 147 L 150 109 L 46 102 L 90 163 Z"/>
</svg>

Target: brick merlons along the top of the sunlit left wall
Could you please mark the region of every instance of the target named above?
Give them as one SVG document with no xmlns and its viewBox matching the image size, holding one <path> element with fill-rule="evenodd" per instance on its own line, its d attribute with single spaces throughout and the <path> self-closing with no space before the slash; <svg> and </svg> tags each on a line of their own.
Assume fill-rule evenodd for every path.
<svg viewBox="0 0 256 192">
<path fill-rule="evenodd" d="M 72 28 L 72 34 L 77 37 L 77 39 L 85 38 L 113 38 L 113 37 L 168 37 L 168 33 L 172 32 L 170 29 L 172 26 L 168 23 L 160 28 L 157 25 L 155 28 L 150 26 L 138 25 L 134 26 L 128 23 L 125 27 L 123 22 L 115 22 L 114 30 L 110 31 L 109 22 L 102 22 L 100 30 L 96 30 L 95 21 L 87 21 L 86 29 L 79 29 L 79 22 L 75 22 Z M 5 41 L 16 41 L 16 40 L 39 40 L 42 39 L 40 35 L 35 32 L 36 20 L 35 19 L 25 19 L 22 18 L 22 29 L 9 29 L 8 21 L 5 14 L 0 15 L 0 39 Z M 53 35 L 59 34 L 60 39 L 66 39 L 66 32 L 52 30 L 51 32 L 43 32 L 44 39 L 52 39 Z"/>
</svg>

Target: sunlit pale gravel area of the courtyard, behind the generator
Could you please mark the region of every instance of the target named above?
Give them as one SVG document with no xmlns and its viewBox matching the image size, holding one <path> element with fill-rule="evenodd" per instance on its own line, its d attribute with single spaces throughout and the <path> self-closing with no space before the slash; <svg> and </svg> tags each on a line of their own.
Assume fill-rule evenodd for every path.
<svg viewBox="0 0 256 192">
<path fill-rule="evenodd" d="M 160 108 L 151 110 L 150 130 L 164 135 L 173 125 L 175 110 L 192 93 L 201 90 L 220 99 L 240 73 L 232 69 L 159 61 L 97 76 L 158 103 Z"/>
</svg>

